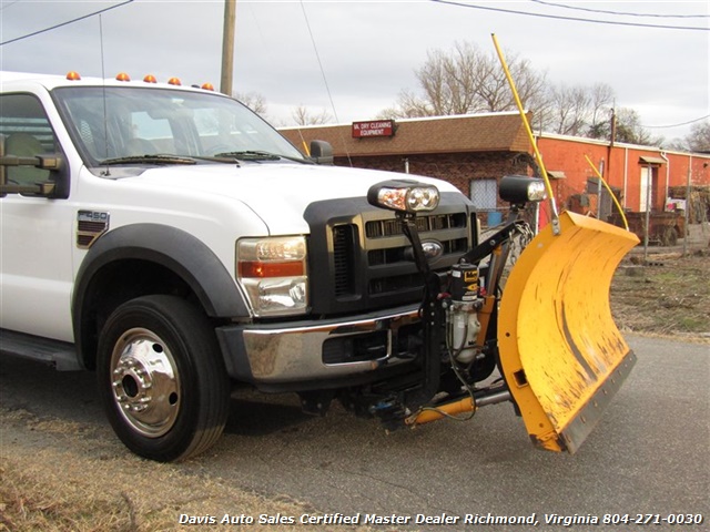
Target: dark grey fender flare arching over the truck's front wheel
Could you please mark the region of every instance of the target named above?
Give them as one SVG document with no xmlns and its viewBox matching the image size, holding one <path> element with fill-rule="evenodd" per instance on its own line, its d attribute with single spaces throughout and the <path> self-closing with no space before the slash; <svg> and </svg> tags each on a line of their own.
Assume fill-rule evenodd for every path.
<svg viewBox="0 0 710 532">
<path fill-rule="evenodd" d="M 212 318 L 248 316 L 235 280 L 210 247 L 182 229 L 161 224 L 118 227 L 97 241 L 81 263 L 72 296 L 72 323 L 79 360 L 91 367 L 99 330 L 94 315 L 94 280 L 106 266 L 142 260 L 169 269 L 194 293 Z M 136 294 L 141 295 L 141 294 Z M 116 301 L 116 303 L 123 303 Z M 93 346 L 93 347 L 92 347 Z"/>
</svg>

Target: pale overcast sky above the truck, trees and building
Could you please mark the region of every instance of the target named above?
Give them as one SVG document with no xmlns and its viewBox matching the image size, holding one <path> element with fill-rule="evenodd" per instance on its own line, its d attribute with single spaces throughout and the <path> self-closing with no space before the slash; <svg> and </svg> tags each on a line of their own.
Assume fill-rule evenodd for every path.
<svg viewBox="0 0 710 532">
<path fill-rule="evenodd" d="M 153 73 L 219 86 L 222 0 L 124 2 L 0 0 L 2 70 L 77 70 L 88 76 L 103 69 L 106 76 Z M 100 17 L 20 39 L 112 6 Z M 414 71 L 427 51 L 448 50 L 456 41 L 494 51 L 495 33 L 506 54 L 529 60 L 551 83 L 611 85 L 618 108 L 636 110 L 653 135 L 672 140 L 690 126 L 656 126 L 710 114 L 709 6 L 708 0 L 236 0 L 234 91 L 261 94 L 276 125 L 293 123 L 297 105 L 325 110 L 341 123 L 369 120 L 393 106 L 400 91 L 418 90 Z"/>
</svg>

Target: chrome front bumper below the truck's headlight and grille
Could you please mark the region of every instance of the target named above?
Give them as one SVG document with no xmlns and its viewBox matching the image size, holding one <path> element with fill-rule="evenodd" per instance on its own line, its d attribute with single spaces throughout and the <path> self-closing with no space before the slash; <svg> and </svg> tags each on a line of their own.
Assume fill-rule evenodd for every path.
<svg viewBox="0 0 710 532">
<path fill-rule="evenodd" d="M 266 385 L 294 383 L 338 379 L 402 362 L 394 352 L 399 329 L 418 323 L 418 306 L 408 306 L 339 320 L 226 326 L 217 328 L 217 337 L 232 378 Z M 324 361 L 326 341 L 347 341 L 373 334 L 383 338 L 384 344 L 376 357 L 338 364 Z"/>
</svg>

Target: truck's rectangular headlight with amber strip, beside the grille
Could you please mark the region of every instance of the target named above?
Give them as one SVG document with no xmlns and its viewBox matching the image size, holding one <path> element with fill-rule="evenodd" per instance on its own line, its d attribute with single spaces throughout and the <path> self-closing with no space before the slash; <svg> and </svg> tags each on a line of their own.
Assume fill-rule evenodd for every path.
<svg viewBox="0 0 710 532">
<path fill-rule="evenodd" d="M 244 238 L 236 244 L 237 280 L 256 316 L 304 314 L 308 307 L 303 236 Z"/>
</svg>

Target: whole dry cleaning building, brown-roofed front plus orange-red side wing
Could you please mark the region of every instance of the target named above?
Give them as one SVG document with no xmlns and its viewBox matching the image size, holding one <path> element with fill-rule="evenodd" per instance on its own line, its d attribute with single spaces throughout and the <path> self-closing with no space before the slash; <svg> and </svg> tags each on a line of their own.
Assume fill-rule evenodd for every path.
<svg viewBox="0 0 710 532">
<path fill-rule="evenodd" d="M 371 121 L 347 125 L 286 127 L 296 146 L 312 140 L 333 145 L 336 165 L 429 175 L 448 181 L 483 212 L 504 207 L 498 180 L 531 175 L 532 150 L 517 112 Z M 592 168 L 599 168 L 626 211 L 663 211 L 671 187 L 710 186 L 710 154 L 666 152 L 650 146 L 616 144 L 542 133 L 537 136 L 558 206 L 596 214 L 602 219 L 611 201 Z M 601 197 L 602 201 L 598 202 Z M 548 218 L 542 208 L 540 222 Z"/>
</svg>

